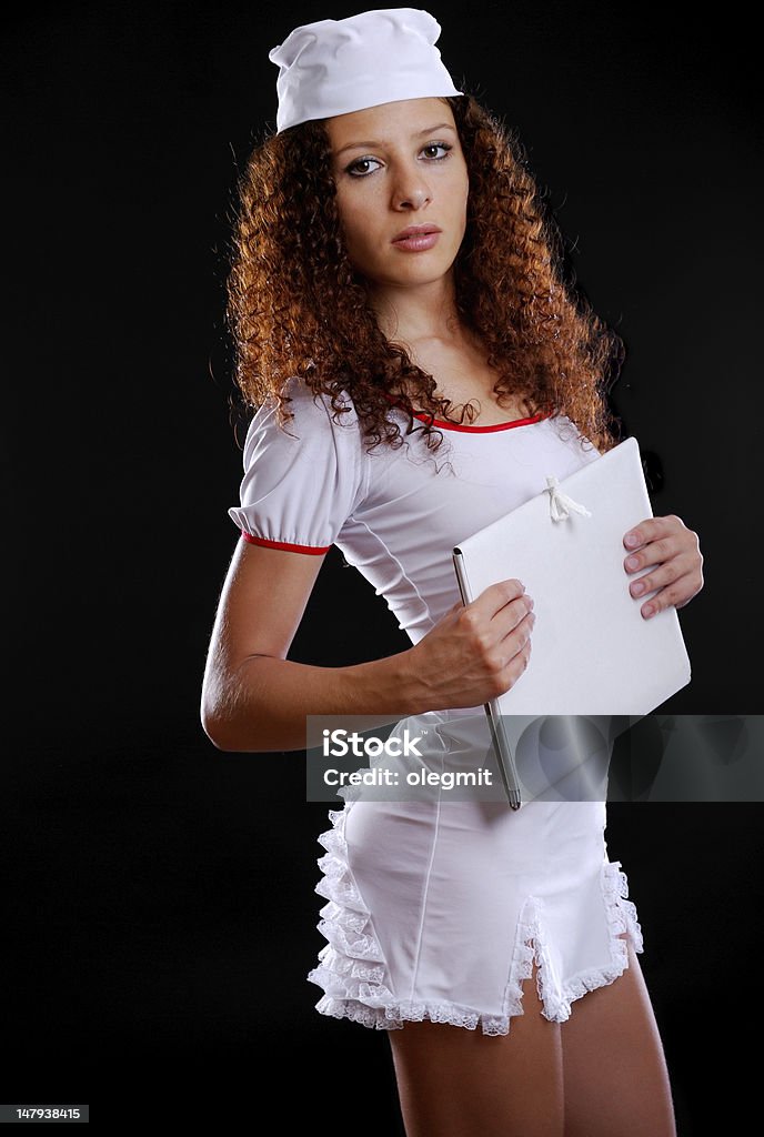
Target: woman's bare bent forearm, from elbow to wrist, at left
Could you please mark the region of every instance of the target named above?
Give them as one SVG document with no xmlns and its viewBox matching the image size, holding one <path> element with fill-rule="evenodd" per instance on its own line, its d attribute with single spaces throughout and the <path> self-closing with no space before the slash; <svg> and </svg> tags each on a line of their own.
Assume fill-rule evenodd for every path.
<svg viewBox="0 0 764 1137">
<path fill-rule="evenodd" d="M 305 749 L 308 715 L 337 715 L 338 725 L 366 730 L 427 709 L 408 650 L 348 667 L 252 656 L 214 686 L 202 724 L 222 750 Z M 354 715 L 363 723 L 352 723 Z"/>
</svg>

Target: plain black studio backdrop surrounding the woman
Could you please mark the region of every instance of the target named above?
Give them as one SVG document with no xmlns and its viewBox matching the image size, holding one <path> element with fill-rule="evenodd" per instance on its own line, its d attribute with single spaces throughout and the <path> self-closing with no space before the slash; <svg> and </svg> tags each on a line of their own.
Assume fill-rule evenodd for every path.
<svg viewBox="0 0 764 1137">
<path fill-rule="evenodd" d="M 269 48 L 358 10 L 93 2 L 6 23 L 3 1102 L 107 1118 L 156 1095 L 155 1114 L 217 1127 L 308 1104 L 317 1134 L 402 1134 L 384 1032 L 319 1016 L 305 981 L 329 822 L 304 758 L 223 754 L 199 722 L 238 539 L 236 171 L 275 123 Z M 613 401 L 658 472 L 654 512 L 700 534 L 706 586 L 680 616 L 692 682 L 665 709 L 756 713 L 753 31 L 731 5 L 719 22 L 601 0 L 429 10 L 456 85 L 518 130 L 625 340 Z M 407 646 L 332 549 L 290 657 Z M 753 1103 L 762 819 L 758 803 L 608 810 L 682 1137 Z"/>
</svg>

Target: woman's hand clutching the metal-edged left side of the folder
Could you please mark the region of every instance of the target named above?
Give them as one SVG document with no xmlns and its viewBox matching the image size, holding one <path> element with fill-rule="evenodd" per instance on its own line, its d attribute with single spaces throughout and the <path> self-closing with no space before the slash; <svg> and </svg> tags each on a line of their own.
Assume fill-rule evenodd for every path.
<svg viewBox="0 0 764 1137">
<path fill-rule="evenodd" d="M 532 607 L 513 578 L 491 584 L 471 604 L 458 600 L 449 608 L 408 649 L 426 709 L 478 706 L 514 687 L 531 654 Z"/>
</svg>

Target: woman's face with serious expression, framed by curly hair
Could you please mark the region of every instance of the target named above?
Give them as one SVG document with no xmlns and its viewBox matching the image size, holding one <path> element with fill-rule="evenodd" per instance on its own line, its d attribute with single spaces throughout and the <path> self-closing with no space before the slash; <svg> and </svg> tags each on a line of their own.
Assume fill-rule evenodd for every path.
<svg viewBox="0 0 764 1137">
<path fill-rule="evenodd" d="M 470 181 L 454 115 L 440 99 L 406 99 L 325 121 L 346 248 L 377 284 L 439 280 L 459 250 Z M 395 242 L 409 225 L 437 225 L 434 243 Z"/>
</svg>

